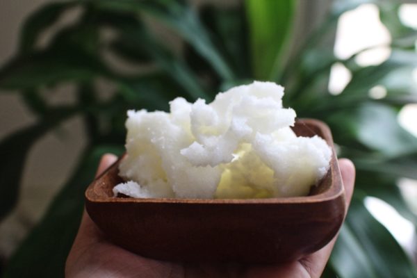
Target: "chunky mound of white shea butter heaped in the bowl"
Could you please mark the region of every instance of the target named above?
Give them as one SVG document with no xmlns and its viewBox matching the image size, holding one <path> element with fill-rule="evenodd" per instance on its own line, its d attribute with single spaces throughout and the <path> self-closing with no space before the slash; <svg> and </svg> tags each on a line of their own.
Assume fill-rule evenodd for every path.
<svg viewBox="0 0 417 278">
<path fill-rule="evenodd" d="M 307 195 L 329 169 L 325 140 L 297 137 L 295 111 L 271 82 L 219 93 L 211 104 L 179 97 L 170 113 L 128 111 L 126 183 L 138 198 L 261 198 Z"/>
</svg>

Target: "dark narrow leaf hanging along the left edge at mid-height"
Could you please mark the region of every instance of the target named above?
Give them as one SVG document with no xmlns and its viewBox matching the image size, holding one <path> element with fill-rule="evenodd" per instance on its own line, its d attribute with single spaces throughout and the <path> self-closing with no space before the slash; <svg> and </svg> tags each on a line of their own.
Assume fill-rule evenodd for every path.
<svg viewBox="0 0 417 278">
<path fill-rule="evenodd" d="M 20 129 L 0 142 L 0 220 L 15 206 L 26 155 L 44 133 L 74 115 L 73 108 L 49 111 L 45 120 Z"/>
</svg>

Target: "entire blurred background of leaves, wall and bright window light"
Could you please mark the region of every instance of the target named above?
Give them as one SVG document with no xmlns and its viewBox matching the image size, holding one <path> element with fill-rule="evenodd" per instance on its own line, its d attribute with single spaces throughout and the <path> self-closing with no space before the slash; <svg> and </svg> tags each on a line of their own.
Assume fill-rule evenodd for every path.
<svg viewBox="0 0 417 278">
<path fill-rule="evenodd" d="M 416 31 L 417 1 L 2 0 L 0 273 L 62 275 L 126 109 L 261 79 L 358 167 L 324 276 L 417 277 Z"/>
</svg>

